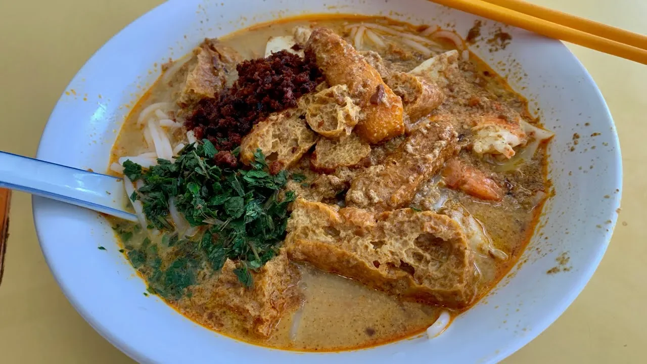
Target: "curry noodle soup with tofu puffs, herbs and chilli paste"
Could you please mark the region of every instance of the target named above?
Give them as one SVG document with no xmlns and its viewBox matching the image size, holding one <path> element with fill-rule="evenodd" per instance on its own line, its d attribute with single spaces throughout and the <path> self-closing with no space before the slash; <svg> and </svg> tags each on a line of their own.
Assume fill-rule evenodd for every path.
<svg viewBox="0 0 647 364">
<path fill-rule="evenodd" d="M 112 152 L 111 220 L 157 295 L 249 343 L 440 334 L 509 271 L 553 134 L 454 32 L 309 17 L 162 66 Z"/>
</svg>

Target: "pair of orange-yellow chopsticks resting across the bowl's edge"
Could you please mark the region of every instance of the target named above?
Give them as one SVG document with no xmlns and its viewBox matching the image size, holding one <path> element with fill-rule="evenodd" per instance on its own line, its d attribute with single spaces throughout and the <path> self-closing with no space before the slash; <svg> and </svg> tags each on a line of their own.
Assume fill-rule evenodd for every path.
<svg viewBox="0 0 647 364">
<path fill-rule="evenodd" d="M 431 0 L 542 34 L 647 64 L 647 36 L 628 32 L 521 0 Z"/>
</svg>

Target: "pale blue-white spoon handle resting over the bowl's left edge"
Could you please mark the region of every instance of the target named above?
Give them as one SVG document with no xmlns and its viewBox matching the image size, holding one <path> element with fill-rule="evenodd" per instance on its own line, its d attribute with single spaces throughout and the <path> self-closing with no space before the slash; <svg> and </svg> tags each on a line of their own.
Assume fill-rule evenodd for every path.
<svg viewBox="0 0 647 364">
<path fill-rule="evenodd" d="M 104 212 L 137 222 L 127 212 L 121 178 L 0 152 L 0 187 Z"/>
</svg>

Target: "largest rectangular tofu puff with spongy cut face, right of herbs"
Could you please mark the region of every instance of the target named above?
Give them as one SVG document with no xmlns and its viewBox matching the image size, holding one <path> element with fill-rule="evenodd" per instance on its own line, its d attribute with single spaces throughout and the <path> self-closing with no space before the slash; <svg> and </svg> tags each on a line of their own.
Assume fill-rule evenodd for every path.
<svg viewBox="0 0 647 364">
<path fill-rule="evenodd" d="M 371 214 L 297 199 L 287 230 L 292 260 L 415 301 L 463 308 L 474 299 L 473 256 L 448 216 Z"/>
</svg>

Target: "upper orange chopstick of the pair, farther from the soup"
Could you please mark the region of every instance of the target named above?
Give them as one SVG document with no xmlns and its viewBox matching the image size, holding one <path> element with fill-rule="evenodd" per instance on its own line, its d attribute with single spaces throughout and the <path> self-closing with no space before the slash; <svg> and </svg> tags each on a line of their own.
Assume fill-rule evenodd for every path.
<svg viewBox="0 0 647 364">
<path fill-rule="evenodd" d="M 483 1 L 493 5 L 502 6 L 504 8 L 509 8 L 510 10 L 527 14 L 529 16 L 534 16 L 543 20 L 551 21 L 552 23 L 561 24 L 569 28 L 582 30 L 582 32 L 593 34 L 595 36 L 600 36 L 609 40 L 615 40 L 626 45 L 633 45 L 633 47 L 647 49 L 647 36 L 642 36 L 641 34 L 632 33 L 624 29 L 611 27 L 611 25 L 597 23 L 589 19 L 584 19 L 583 17 L 566 14 L 564 12 L 558 12 L 557 10 L 544 8 L 543 6 L 534 5 L 521 0 Z"/>
</svg>

